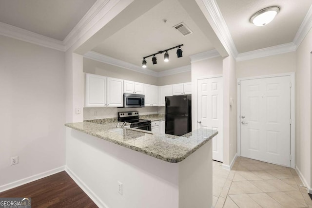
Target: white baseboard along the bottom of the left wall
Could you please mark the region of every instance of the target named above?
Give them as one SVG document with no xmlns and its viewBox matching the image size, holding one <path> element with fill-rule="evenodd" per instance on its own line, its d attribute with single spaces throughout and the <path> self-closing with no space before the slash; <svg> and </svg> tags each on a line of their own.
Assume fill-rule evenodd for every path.
<svg viewBox="0 0 312 208">
<path fill-rule="evenodd" d="M 27 178 L 23 178 L 23 179 L 20 179 L 18 181 L 14 181 L 12 183 L 2 185 L 2 186 L 0 186 L 0 192 L 3 192 L 3 191 L 6 191 L 6 190 L 9 190 L 9 189 L 13 189 L 13 188 L 19 187 L 21 185 L 24 185 L 24 184 L 27 184 L 27 183 L 39 180 L 41 178 L 45 178 L 47 176 L 53 175 L 55 173 L 58 173 L 58 172 L 61 172 L 61 171 L 64 171 L 64 170 L 65 170 L 65 166 L 61 166 L 61 167 L 56 168 L 56 169 L 52 169 L 52 170 L 48 170 L 48 171 L 45 171 L 45 172 L 41 172 L 39 174 L 32 175 L 32 176 L 29 176 Z"/>
</svg>

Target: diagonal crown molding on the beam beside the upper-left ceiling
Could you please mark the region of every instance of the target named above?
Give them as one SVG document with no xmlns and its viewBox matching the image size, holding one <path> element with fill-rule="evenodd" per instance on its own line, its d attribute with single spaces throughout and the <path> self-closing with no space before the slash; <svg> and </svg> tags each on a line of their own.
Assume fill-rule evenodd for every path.
<svg viewBox="0 0 312 208">
<path fill-rule="evenodd" d="M 65 50 L 68 50 L 84 34 L 102 19 L 120 0 L 97 0 L 89 11 L 80 19 L 73 30 L 63 40 Z"/>
</svg>

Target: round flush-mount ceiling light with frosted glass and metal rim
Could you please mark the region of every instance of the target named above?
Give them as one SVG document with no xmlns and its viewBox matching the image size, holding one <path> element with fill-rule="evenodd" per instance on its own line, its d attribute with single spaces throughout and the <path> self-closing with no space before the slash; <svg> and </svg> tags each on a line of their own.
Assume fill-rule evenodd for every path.
<svg viewBox="0 0 312 208">
<path fill-rule="evenodd" d="M 277 6 L 271 6 L 261 9 L 251 17 L 250 22 L 252 22 L 256 26 L 266 25 L 275 18 L 278 12 L 279 7 Z"/>
</svg>

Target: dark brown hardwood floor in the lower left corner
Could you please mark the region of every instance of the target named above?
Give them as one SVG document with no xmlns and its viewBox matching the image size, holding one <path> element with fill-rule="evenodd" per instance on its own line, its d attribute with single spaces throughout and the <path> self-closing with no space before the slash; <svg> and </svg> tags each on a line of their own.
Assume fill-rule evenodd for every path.
<svg viewBox="0 0 312 208">
<path fill-rule="evenodd" d="M 1 197 L 31 197 L 32 208 L 97 208 L 65 171 L 3 191 Z"/>
</svg>

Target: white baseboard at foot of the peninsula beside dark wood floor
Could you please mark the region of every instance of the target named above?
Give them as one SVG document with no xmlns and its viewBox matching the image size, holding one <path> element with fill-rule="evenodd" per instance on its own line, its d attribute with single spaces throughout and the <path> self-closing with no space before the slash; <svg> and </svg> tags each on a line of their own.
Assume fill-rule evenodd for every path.
<svg viewBox="0 0 312 208">
<path fill-rule="evenodd" d="M 67 166 L 65 171 L 99 208 L 108 208 L 108 206 L 98 197 L 98 195 L 89 189 L 89 187 Z"/>
</svg>

